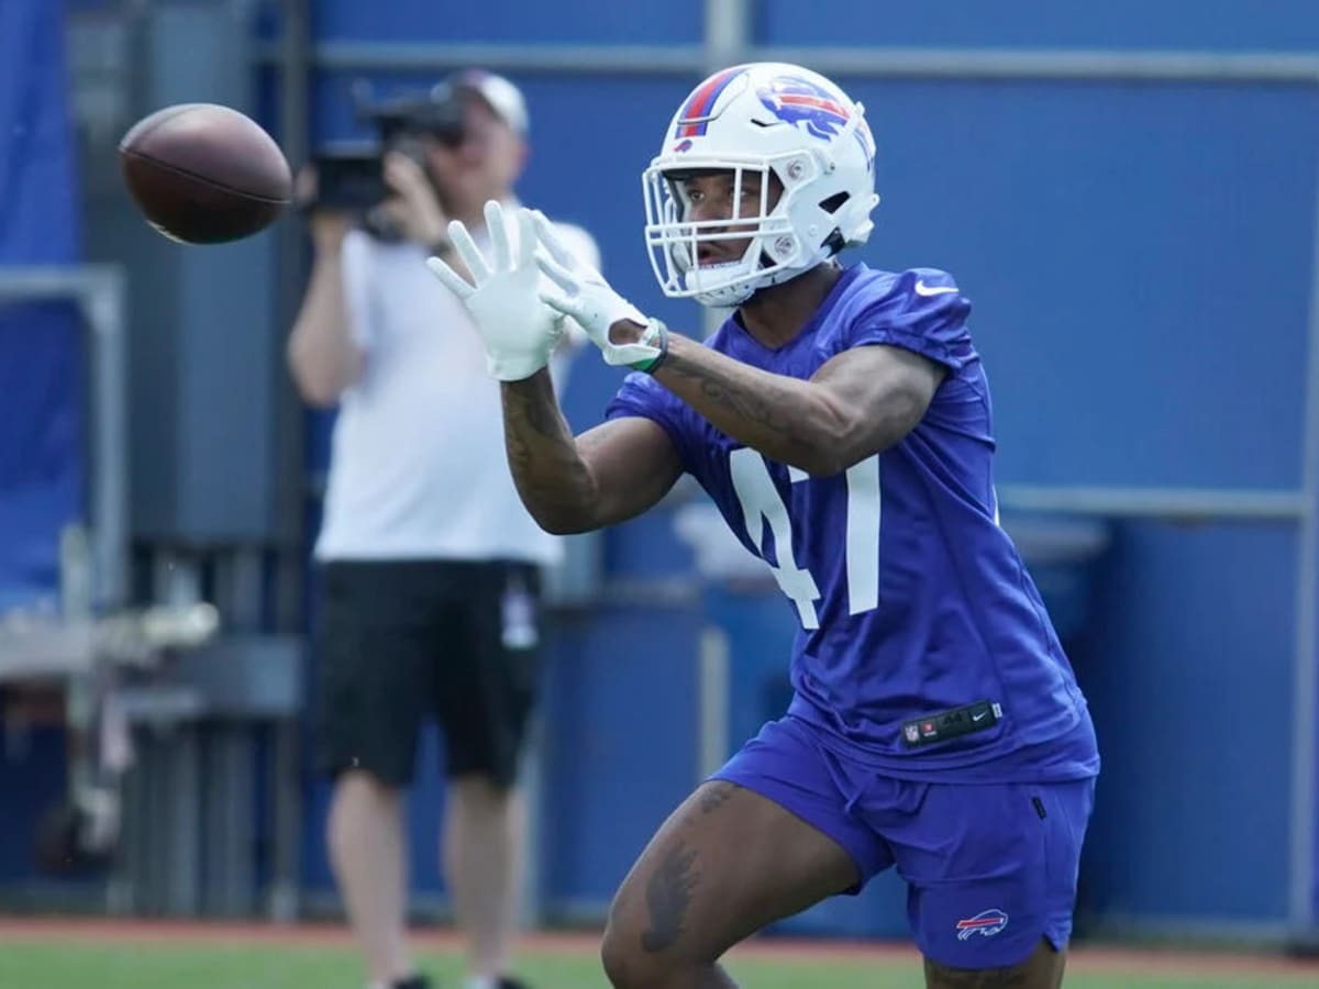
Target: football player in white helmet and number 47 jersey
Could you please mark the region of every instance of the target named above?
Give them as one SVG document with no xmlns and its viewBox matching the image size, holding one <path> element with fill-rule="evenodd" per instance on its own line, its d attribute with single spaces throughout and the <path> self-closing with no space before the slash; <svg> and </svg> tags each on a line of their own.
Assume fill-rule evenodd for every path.
<svg viewBox="0 0 1319 989">
<path fill-rule="evenodd" d="M 642 315 L 530 211 L 488 258 L 452 228 L 471 281 L 430 262 L 481 331 L 543 527 L 621 522 L 691 473 L 801 624 L 789 709 L 624 880 L 609 980 L 731 986 L 729 947 L 896 866 L 926 985 L 1059 985 L 1099 753 L 998 525 L 969 302 L 942 270 L 839 262 L 872 229 L 874 141 L 799 66 L 702 82 L 644 179 L 665 294 L 735 307 L 704 343 Z M 545 372 L 565 315 L 633 369 L 576 438 Z"/>
</svg>

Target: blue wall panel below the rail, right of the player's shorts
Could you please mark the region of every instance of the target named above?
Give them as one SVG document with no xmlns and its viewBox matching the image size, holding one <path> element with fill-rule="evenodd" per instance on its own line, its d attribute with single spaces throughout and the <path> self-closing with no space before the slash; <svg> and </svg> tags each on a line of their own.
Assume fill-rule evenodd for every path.
<svg viewBox="0 0 1319 989">
<path fill-rule="evenodd" d="M 1286 918 L 1295 554 L 1285 526 L 1117 527 L 1074 650 L 1104 756 L 1093 910 Z"/>
</svg>

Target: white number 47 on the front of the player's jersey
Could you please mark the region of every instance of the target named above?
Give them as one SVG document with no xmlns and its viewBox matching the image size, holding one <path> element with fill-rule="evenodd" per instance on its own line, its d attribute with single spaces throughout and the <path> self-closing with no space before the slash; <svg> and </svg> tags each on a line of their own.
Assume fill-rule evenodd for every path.
<svg viewBox="0 0 1319 989">
<path fill-rule="evenodd" d="M 780 589 L 797 605 L 797 614 L 805 629 L 819 628 L 815 601 L 820 592 L 809 570 L 797 566 L 793 555 L 793 521 L 787 505 L 778 496 L 774 479 L 769 476 L 765 459 L 754 450 L 743 447 L 728 456 L 733 489 L 743 509 L 747 534 L 761 549 L 764 524 L 774 537 L 777 564 L 770 572 Z M 795 477 L 794 477 L 795 480 Z M 802 475 L 806 480 L 806 475 Z M 860 614 L 880 604 L 880 456 L 868 456 L 847 468 L 847 596 L 848 613 Z"/>
</svg>

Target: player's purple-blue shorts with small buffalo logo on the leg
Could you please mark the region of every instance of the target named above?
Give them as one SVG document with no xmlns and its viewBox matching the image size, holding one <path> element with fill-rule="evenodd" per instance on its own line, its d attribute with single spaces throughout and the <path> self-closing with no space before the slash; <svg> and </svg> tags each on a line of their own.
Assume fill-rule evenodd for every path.
<svg viewBox="0 0 1319 989">
<path fill-rule="evenodd" d="M 714 779 L 774 800 L 840 844 L 861 882 L 896 865 L 926 957 L 954 968 L 1025 961 L 1071 935 L 1095 779 L 931 783 L 880 775 L 770 721 Z"/>
</svg>

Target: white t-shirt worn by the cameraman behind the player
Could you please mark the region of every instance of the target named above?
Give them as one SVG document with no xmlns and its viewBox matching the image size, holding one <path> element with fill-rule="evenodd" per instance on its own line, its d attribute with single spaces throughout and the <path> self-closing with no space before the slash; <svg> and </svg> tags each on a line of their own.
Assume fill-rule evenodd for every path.
<svg viewBox="0 0 1319 989">
<path fill-rule="evenodd" d="M 586 231 L 557 231 L 599 266 Z M 485 249 L 488 239 L 474 239 Z M 315 556 L 557 564 L 561 541 L 536 524 L 513 487 L 499 382 L 485 372 L 476 327 L 425 260 L 415 244 L 384 244 L 361 231 L 344 239 L 348 319 L 367 360 L 340 398 Z M 580 345 L 584 334 L 572 331 Z M 561 348 L 550 365 L 559 389 L 567 360 Z"/>
</svg>

